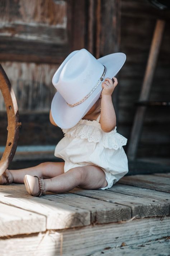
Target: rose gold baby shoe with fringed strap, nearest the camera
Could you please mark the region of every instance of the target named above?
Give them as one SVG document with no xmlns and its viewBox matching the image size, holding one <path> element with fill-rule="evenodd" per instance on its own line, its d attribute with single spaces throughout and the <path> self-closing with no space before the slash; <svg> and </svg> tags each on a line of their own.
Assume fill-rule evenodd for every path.
<svg viewBox="0 0 170 256">
<path fill-rule="evenodd" d="M 36 177 L 36 178 L 35 178 Z M 24 184 L 27 192 L 34 197 L 41 197 L 46 194 L 46 183 L 43 177 L 25 175 Z"/>
</svg>

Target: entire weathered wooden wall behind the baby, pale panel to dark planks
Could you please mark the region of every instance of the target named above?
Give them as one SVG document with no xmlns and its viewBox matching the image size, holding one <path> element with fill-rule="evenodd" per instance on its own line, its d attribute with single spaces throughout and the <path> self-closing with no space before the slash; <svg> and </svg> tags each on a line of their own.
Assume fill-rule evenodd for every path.
<svg viewBox="0 0 170 256">
<path fill-rule="evenodd" d="M 150 99 L 170 99 L 169 12 L 155 9 L 147 0 L 1 0 L 0 3 L 0 63 L 15 91 L 23 124 L 18 145 L 54 145 L 63 137 L 61 129 L 49 122 L 55 93 L 51 80 L 62 60 L 72 50 L 81 48 L 88 49 L 96 58 L 111 53 L 112 48 L 126 53 L 126 63 L 118 74 L 117 131 L 129 139 L 136 109 L 134 101 L 140 95 L 156 19 L 164 17 L 166 26 Z M 120 11 L 113 13 L 114 8 Z M 89 15 L 91 10 L 94 17 Z M 113 16 L 114 29 L 109 28 L 112 19 L 107 19 L 107 15 Z M 90 22 L 95 27 L 92 24 L 90 29 Z M 109 33 L 112 41 L 105 40 Z M 148 108 L 138 157 L 170 156 L 169 111 L 166 107 Z M 0 145 L 6 143 L 6 126 L 0 93 Z M 127 147 L 128 144 L 125 151 Z"/>
</svg>

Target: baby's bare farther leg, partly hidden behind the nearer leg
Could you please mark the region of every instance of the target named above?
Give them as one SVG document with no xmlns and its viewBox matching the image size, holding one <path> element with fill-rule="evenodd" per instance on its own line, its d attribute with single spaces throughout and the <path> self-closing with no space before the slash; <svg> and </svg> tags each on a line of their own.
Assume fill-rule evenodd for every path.
<svg viewBox="0 0 170 256">
<path fill-rule="evenodd" d="M 24 176 L 26 174 L 36 175 L 43 177 L 44 179 L 53 178 L 57 175 L 64 173 L 64 162 L 45 162 L 40 163 L 37 166 L 19 169 L 19 170 L 9 170 L 14 177 L 14 183 L 24 183 Z"/>
</svg>

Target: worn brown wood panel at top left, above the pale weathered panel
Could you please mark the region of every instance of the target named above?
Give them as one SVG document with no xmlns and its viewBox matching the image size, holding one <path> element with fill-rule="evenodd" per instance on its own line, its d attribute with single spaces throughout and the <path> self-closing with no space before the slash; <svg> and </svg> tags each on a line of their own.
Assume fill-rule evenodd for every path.
<svg viewBox="0 0 170 256">
<path fill-rule="evenodd" d="M 69 52 L 67 1 L 3 1 L 0 60 L 60 63 Z"/>
</svg>

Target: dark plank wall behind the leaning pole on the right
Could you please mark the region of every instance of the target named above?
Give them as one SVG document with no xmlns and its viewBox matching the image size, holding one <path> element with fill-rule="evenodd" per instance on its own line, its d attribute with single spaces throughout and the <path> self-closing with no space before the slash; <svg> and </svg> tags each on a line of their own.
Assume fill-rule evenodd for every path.
<svg viewBox="0 0 170 256">
<path fill-rule="evenodd" d="M 150 100 L 170 102 L 170 12 L 157 10 L 146 0 L 122 0 L 120 51 L 127 59 L 119 73 L 118 130 L 126 138 L 130 137 L 134 102 L 140 96 L 157 18 L 165 19 L 166 25 Z M 170 157 L 170 107 L 148 107 L 146 111 L 137 157 L 154 156 Z"/>
</svg>

